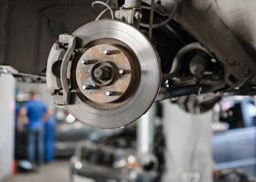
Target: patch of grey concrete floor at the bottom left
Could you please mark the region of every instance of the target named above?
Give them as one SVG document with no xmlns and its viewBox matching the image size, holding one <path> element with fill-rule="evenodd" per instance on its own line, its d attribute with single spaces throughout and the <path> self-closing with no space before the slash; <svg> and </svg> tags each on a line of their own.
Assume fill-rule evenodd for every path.
<svg viewBox="0 0 256 182">
<path fill-rule="evenodd" d="M 18 173 L 6 182 L 69 182 L 68 160 L 43 165 L 36 173 Z"/>
</svg>

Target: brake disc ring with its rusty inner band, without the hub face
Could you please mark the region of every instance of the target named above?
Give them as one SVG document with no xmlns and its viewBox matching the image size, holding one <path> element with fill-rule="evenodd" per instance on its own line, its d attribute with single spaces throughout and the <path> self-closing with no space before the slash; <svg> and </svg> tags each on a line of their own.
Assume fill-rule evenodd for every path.
<svg viewBox="0 0 256 182">
<path fill-rule="evenodd" d="M 77 80 L 71 82 L 77 96 L 74 104 L 66 106 L 68 111 L 80 121 L 101 128 L 122 127 L 148 111 L 157 97 L 162 73 L 157 52 L 146 36 L 131 25 L 116 20 L 98 20 L 86 24 L 73 35 L 77 37 L 76 50 L 79 52 L 72 60 L 72 80 L 77 79 L 80 57 L 91 47 L 100 44 L 108 44 L 128 52 L 131 57 L 129 66 L 134 68 L 131 68 L 127 91 L 120 99 L 111 103 L 90 100 L 80 90 Z"/>
</svg>

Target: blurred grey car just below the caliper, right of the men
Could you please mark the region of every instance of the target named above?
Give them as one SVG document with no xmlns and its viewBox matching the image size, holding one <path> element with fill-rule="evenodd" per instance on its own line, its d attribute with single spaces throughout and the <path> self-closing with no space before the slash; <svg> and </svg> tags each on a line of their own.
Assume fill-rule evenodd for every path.
<svg viewBox="0 0 256 182">
<path fill-rule="evenodd" d="M 56 157 L 71 157 L 79 141 L 97 142 L 102 138 L 120 132 L 120 129 L 102 130 L 89 127 L 75 119 L 64 107 L 56 107 L 56 141 L 54 154 Z"/>
</svg>

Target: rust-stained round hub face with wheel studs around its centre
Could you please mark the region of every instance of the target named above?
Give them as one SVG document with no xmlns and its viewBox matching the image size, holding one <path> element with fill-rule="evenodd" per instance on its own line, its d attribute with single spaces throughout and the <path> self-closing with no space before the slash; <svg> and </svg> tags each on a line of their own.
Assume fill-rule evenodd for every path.
<svg viewBox="0 0 256 182">
<path fill-rule="evenodd" d="M 110 50 L 112 53 L 106 55 L 105 50 Z M 83 61 L 87 63 L 83 63 Z M 76 70 L 76 80 L 78 87 L 83 95 L 97 103 L 110 103 L 121 98 L 129 87 L 131 81 L 131 58 L 121 49 L 121 47 L 111 46 L 108 44 L 99 44 L 91 47 L 83 53 L 78 62 Z M 132 63 L 132 62 L 131 62 Z M 113 76 L 109 81 L 99 84 L 93 74 L 95 67 L 100 64 L 107 65 L 113 68 Z M 134 67 L 134 66 L 133 66 Z M 119 74 L 118 71 L 123 70 L 124 74 Z M 138 78 L 139 79 L 139 78 Z M 84 89 L 84 86 L 91 86 L 91 89 Z M 135 88 L 130 88 L 135 89 Z M 106 92 L 115 92 L 115 95 L 106 95 Z"/>
</svg>

